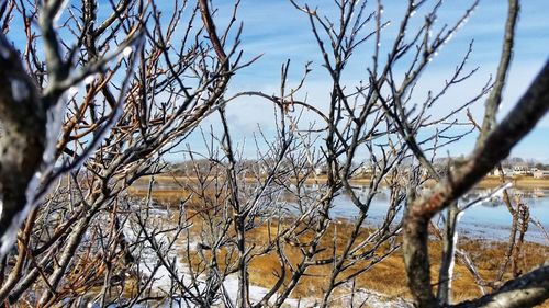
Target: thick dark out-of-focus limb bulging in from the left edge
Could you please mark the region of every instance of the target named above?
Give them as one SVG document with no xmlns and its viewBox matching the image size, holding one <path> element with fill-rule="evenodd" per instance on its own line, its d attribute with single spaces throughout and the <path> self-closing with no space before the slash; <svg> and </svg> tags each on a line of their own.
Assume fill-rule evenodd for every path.
<svg viewBox="0 0 549 308">
<path fill-rule="evenodd" d="M 0 34 L 0 256 L 30 209 L 26 196 L 46 144 L 46 109 L 18 53 Z"/>
</svg>

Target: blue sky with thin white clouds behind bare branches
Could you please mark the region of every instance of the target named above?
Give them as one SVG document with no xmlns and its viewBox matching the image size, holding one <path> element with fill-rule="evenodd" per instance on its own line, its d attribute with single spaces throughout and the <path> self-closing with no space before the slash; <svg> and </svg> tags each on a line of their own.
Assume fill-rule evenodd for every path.
<svg viewBox="0 0 549 308">
<path fill-rule="evenodd" d="M 214 5 L 220 8 L 219 18 L 223 21 L 231 13 L 228 4 L 231 1 L 214 0 Z M 444 23 L 456 21 L 472 1 L 447 1 L 439 11 L 439 26 Z M 299 1 L 299 3 L 304 3 Z M 335 13 L 333 1 L 309 1 L 310 7 L 318 7 L 318 12 L 326 15 Z M 376 1 L 370 1 L 370 9 L 376 8 Z M 405 1 L 384 1 L 384 20 L 392 23 L 384 33 L 381 42 L 382 48 L 389 45 L 392 35 L 396 33 L 399 22 L 405 9 Z M 468 61 L 469 69 L 479 66 L 479 71 L 464 84 L 451 91 L 437 110 L 448 112 L 478 93 L 491 75 L 495 73 L 500 50 L 502 45 L 503 30 L 506 19 L 507 2 L 495 0 L 481 0 L 470 20 L 460 32 L 453 36 L 430 64 L 430 68 L 422 76 L 418 84 L 419 95 L 427 89 L 437 89 L 453 71 L 460 57 L 467 50 L 471 39 L 474 39 L 473 52 Z M 528 87 L 535 75 L 541 68 L 549 56 L 549 2 L 547 0 L 522 1 L 516 48 L 513 57 L 509 82 L 504 92 L 504 101 L 500 112 L 503 117 L 513 107 L 515 102 Z M 416 23 L 424 19 L 422 11 L 414 15 Z M 305 91 L 309 102 L 323 109 L 327 100 L 329 89 L 327 72 L 322 68 L 322 58 L 310 31 L 306 16 L 295 10 L 287 0 L 243 0 L 238 13 L 239 21 L 244 22 L 244 34 L 242 37 L 245 55 L 251 58 L 262 54 L 262 57 L 251 67 L 240 71 L 231 84 L 231 92 L 246 90 L 262 90 L 266 93 L 278 93 L 280 81 L 280 66 L 287 59 L 292 60 L 293 82 L 296 82 L 307 61 L 313 61 L 313 72 L 307 80 Z M 349 82 L 367 78 L 367 68 L 371 64 L 372 47 L 365 45 L 355 55 L 350 69 L 345 75 Z M 290 82 L 292 83 L 292 82 Z M 473 115 L 480 121 L 483 101 L 472 106 Z M 242 99 L 233 102 L 227 114 L 236 140 L 246 138 L 251 142 L 254 132 L 258 125 L 265 132 L 272 132 L 273 116 L 272 106 L 257 99 Z M 461 115 L 463 116 L 463 115 Z M 306 119 L 306 117 L 304 118 Z M 313 118 L 310 118 L 313 121 Z M 209 119 L 204 125 L 216 126 L 216 116 Z M 546 116 L 538 127 L 514 149 L 512 156 L 534 158 L 549 163 L 549 117 Z M 188 140 L 194 147 L 200 147 L 197 136 Z M 467 155 L 474 145 L 475 136 L 463 138 L 447 150 L 451 156 Z M 249 155 L 254 147 L 249 148 Z M 445 153 L 446 155 L 446 153 Z"/>
</svg>

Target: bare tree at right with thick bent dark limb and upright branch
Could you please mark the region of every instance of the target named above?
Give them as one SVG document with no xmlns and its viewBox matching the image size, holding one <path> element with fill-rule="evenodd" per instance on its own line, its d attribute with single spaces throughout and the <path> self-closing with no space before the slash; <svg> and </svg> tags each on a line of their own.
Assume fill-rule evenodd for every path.
<svg viewBox="0 0 549 308">
<path fill-rule="evenodd" d="M 517 105 L 501 124 L 495 123 L 495 115 L 502 100 L 502 89 L 506 82 L 513 50 L 517 14 L 518 1 L 509 1 L 502 59 L 494 88 L 486 100 L 483 125 L 474 152 L 464 166 L 455 169 L 432 192 L 425 196 L 414 197 L 404 220 L 404 255 L 410 280 L 408 284 L 416 305 L 421 307 L 438 307 L 440 305 L 437 303 L 430 287 L 429 258 L 427 255 L 428 221 L 436 213 L 452 206 L 461 195 L 479 182 L 491 169 L 495 168 L 501 160 L 506 158 L 511 149 L 534 128 L 536 123 L 548 111 L 547 82 L 549 75 L 548 65 L 546 64 Z M 509 204 L 508 197 L 506 203 Z M 509 208 L 514 216 L 514 226 L 516 226 L 518 209 L 515 212 L 511 206 Z M 456 217 L 450 217 L 450 214 L 449 219 L 456 221 Z M 513 228 L 513 230 L 515 229 L 516 227 Z M 515 231 L 512 231 L 511 243 L 515 243 Z M 446 271 L 449 270 L 446 269 Z M 525 307 L 540 304 L 549 295 L 547 292 L 547 265 L 544 265 L 505 283 L 492 294 L 488 294 L 478 300 L 464 303 L 461 306 Z M 448 297 L 446 295 L 442 298 L 439 297 L 439 299 L 445 305 Z"/>
</svg>

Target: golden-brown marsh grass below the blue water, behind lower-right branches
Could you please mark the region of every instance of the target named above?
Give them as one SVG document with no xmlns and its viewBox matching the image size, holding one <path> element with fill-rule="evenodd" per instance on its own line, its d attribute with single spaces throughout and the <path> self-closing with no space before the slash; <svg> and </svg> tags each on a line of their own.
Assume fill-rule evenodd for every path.
<svg viewBox="0 0 549 308">
<path fill-rule="evenodd" d="M 272 226 L 271 228 L 273 228 Z M 261 246 L 267 242 L 268 227 L 261 226 L 248 233 L 248 241 L 250 244 Z M 348 235 L 351 232 L 351 225 L 347 221 L 338 225 L 338 236 L 336 239 L 337 253 L 341 253 L 345 242 L 348 240 Z M 333 253 L 333 235 L 334 229 L 330 228 L 325 237 L 323 238 L 321 247 L 326 248 L 325 252 L 318 254 L 317 259 L 328 258 Z M 272 230 L 271 230 L 272 233 Z M 361 237 L 368 236 L 369 230 L 366 228 L 362 230 Z M 506 244 L 503 242 L 486 242 L 482 240 L 473 239 L 462 239 L 459 241 L 459 248 L 468 251 L 477 264 L 480 274 L 485 280 L 490 281 L 495 277 L 495 272 L 498 270 L 500 263 L 503 260 L 503 255 L 506 249 Z M 388 247 L 382 247 L 377 256 L 381 256 Z M 302 259 L 302 253 L 298 248 L 285 246 L 284 253 L 292 264 L 296 264 Z M 524 253 L 522 258 L 522 266 L 527 271 L 541 263 L 544 263 L 549 253 L 549 248 L 536 243 L 526 243 L 524 246 Z M 441 254 L 441 243 L 439 241 L 432 241 L 429 244 L 429 254 L 432 258 L 432 275 L 436 277 L 438 275 L 439 267 L 439 256 Z M 194 266 L 199 266 L 198 254 L 192 254 L 190 263 Z M 222 250 L 220 253 L 220 260 L 225 260 L 226 251 Z M 231 262 L 234 262 L 234 258 Z M 352 274 L 361 265 L 368 265 L 369 261 L 363 261 L 358 263 L 356 266 L 345 271 L 341 277 Z M 223 264 L 222 264 L 223 266 Z M 197 270 L 195 269 L 195 270 Z M 290 269 L 287 267 L 287 271 Z M 332 264 L 328 265 L 315 265 L 311 266 L 305 273 L 301 282 L 298 284 L 292 293 L 292 297 L 320 297 L 323 294 L 323 289 L 326 288 L 328 284 L 329 273 L 332 270 Z M 251 284 L 271 287 L 276 284 L 278 276 L 281 272 L 278 255 L 270 253 L 267 255 L 261 255 L 255 258 L 249 265 L 249 275 Z M 287 272 L 289 273 L 289 272 Z M 506 275 L 511 278 L 511 275 Z M 289 278 L 285 280 L 289 282 Z M 406 275 L 404 272 L 404 263 L 402 253 L 397 250 L 395 253 L 391 254 L 385 260 L 381 261 L 374 265 L 370 271 L 367 271 L 356 277 L 356 287 L 366 288 L 370 290 L 379 292 L 391 298 L 410 298 L 410 293 L 406 287 Z M 461 301 L 464 299 L 471 299 L 481 295 L 479 288 L 475 286 L 473 276 L 467 270 L 466 266 L 457 262 L 455 267 L 455 281 L 452 282 L 453 299 L 456 301 Z M 336 292 L 337 294 L 337 292 Z M 549 303 L 544 307 L 549 307 Z"/>
</svg>

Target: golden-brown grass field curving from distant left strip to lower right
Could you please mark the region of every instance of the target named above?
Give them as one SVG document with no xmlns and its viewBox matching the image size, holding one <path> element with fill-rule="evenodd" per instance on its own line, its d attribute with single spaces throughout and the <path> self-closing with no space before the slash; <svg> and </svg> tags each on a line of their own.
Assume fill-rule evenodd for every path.
<svg viewBox="0 0 549 308">
<path fill-rule="evenodd" d="M 160 179 L 160 181 L 166 181 L 165 179 Z M 131 190 L 132 195 L 143 197 L 146 195 L 146 192 L 138 190 Z M 166 205 L 175 205 L 178 204 L 179 199 L 188 197 L 189 193 L 181 191 L 153 191 L 153 198 Z M 190 208 L 188 212 L 189 219 L 192 219 L 193 227 L 191 228 L 191 237 L 198 237 L 199 230 L 204 227 L 203 221 L 200 218 L 200 215 L 197 214 L 198 207 L 200 207 L 197 203 L 198 199 L 191 199 Z M 194 205 L 193 205 L 194 204 Z M 257 247 L 265 246 L 269 241 L 269 235 L 273 235 L 277 231 L 277 228 L 285 228 L 285 224 L 274 225 L 271 223 L 270 225 L 264 224 L 256 229 L 253 229 L 247 232 L 247 242 L 248 244 L 256 244 Z M 326 248 L 325 251 L 321 252 L 316 259 L 328 258 L 333 255 L 334 248 L 334 235 L 335 228 L 334 225 L 337 225 L 337 236 L 335 237 L 336 242 L 336 252 L 340 253 L 344 247 L 344 243 L 348 240 L 349 235 L 351 233 L 352 225 L 348 220 L 339 220 L 335 221 L 330 228 L 328 228 L 326 235 L 323 237 L 321 242 L 321 247 Z M 362 228 L 359 235 L 359 239 L 366 238 L 368 233 L 371 232 L 371 229 Z M 307 239 L 311 238 L 310 232 L 304 232 L 300 236 L 300 240 L 306 242 Z M 184 241 L 186 239 L 181 239 Z M 481 276 L 490 281 L 494 278 L 495 272 L 497 271 L 501 262 L 504 259 L 504 253 L 507 248 L 507 244 L 504 242 L 491 242 L 479 239 L 469 239 L 461 238 L 459 241 L 459 248 L 467 251 L 472 259 L 473 263 L 478 266 Z M 298 264 L 300 260 L 302 260 L 303 254 L 300 249 L 285 244 L 284 253 L 288 256 L 288 260 L 292 264 Z M 386 250 L 388 246 L 382 246 L 381 249 L 377 252 L 376 256 L 381 256 Z M 227 255 L 228 254 L 228 255 Z M 432 276 L 437 276 L 437 269 L 439 266 L 439 256 L 441 254 L 441 243 L 439 241 L 430 241 L 429 243 L 429 254 L 432 255 Z M 187 255 L 186 251 L 181 251 L 181 255 Z M 198 255 L 198 252 L 189 252 L 190 258 L 186 260 L 187 263 L 191 264 L 194 270 L 204 269 L 204 264 L 201 263 L 201 259 Z M 523 253 L 520 254 L 520 269 L 523 272 L 529 271 L 535 266 L 544 263 L 548 260 L 549 256 L 549 247 L 526 242 L 523 246 Z M 206 258 L 209 258 L 206 251 Z M 226 264 L 233 264 L 235 262 L 235 253 L 229 253 L 226 249 L 221 249 L 217 254 L 220 266 L 224 267 Z M 352 274 L 357 269 L 368 265 L 369 261 L 363 261 L 358 263 L 354 267 L 344 272 L 341 276 L 347 276 Z M 301 280 L 300 284 L 293 290 L 291 297 L 318 297 L 323 294 L 323 289 L 326 287 L 329 278 L 330 267 L 332 265 L 314 265 L 307 269 L 306 275 Z M 287 266 L 287 280 L 289 267 Z M 277 275 L 281 273 L 281 265 L 279 262 L 279 258 L 276 253 L 267 253 L 260 256 L 256 256 L 251 260 L 249 265 L 249 275 L 251 284 L 262 286 L 262 287 L 271 287 L 277 282 Z M 511 278 L 511 274 L 507 273 L 506 278 Z M 410 293 L 406 287 L 406 276 L 404 272 L 404 264 L 402 259 L 402 253 L 397 250 L 395 253 L 391 254 L 385 260 L 378 263 L 370 271 L 362 273 L 361 275 L 356 277 L 356 287 L 357 288 L 367 288 L 371 290 L 376 290 L 384 294 L 388 299 L 402 297 L 410 298 Z M 452 282 L 453 289 L 453 299 L 456 301 L 461 301 L 464 299 L 470 299 L 473 297 L 478 297 L 480 295 L 480 290 L 475 285 L 473 276 L 469 273 L 466 266 L 461 264 L 459 261 L 455 267 L 455 281 Z M 336 292 L 337 294 L 337 292 Z M 549 307 L 549 301 L 546 301 L 541 307 Z"/>
</svg>

